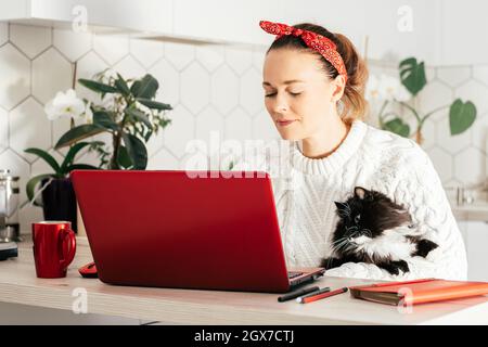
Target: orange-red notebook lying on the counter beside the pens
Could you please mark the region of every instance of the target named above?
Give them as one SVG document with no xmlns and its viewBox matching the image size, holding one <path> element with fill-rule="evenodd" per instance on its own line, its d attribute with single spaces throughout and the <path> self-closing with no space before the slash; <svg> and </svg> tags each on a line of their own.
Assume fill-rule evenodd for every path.
<svg viewBox="0 0 488 347">
<path fill-rule="evenodd" d="M 355 298 L 407 306 L 486 295 L 488 294 L 488 282 L 421 279 L 351 286 L 349 291 Z"/>
</svg>

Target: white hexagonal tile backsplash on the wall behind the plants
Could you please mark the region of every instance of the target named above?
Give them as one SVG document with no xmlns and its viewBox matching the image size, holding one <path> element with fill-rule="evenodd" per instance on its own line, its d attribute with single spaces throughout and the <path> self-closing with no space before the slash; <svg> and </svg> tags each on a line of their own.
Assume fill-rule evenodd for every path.
<svg viewBox="0 0 488 347">
<path fill-rule="evenodd" d="M 21 176 L 21 201 L 25 202 L 25 182 L 47 167 L 24 149 L 39 146 L 59 158 L 65 154 L 52 147 L 68 124 L 48 120 L 42 107 L 56 91 L 72 86 L 74 62 L 78 78 L 91 78 L 110 66 L 126 78 L 147 72 L 158 79 L 157 100 L 174 106 L 168 114 L 174 123 L 147 145 L 149 169 L 183 169 L 187 142 L 208 141 L 210 131 L 218 131 L 222 140 L 278 139 L 262 98 L 266 49 L 158 42 L 2 23 L 0 167 Z M 483 65 L 427 68 L 429 83 L 420 99 L 423 112 L 458 97 L 473 100 L 478 108 L 475 125 L 461 136 L 449 134 L 448 111 L 435 114 L 424 127 L 423 147 L 445 185 L 476 184 L 486 178 L 487 70 Z M 386 63 L 371 64 L 374 74 L 395 72 Z M 77 92 L 93 97 L 79 86 Z M 97 164 L 89 153 L 81 160 Z M 23 229 L 40 218 L 39 208 L 27 205 L 21 211 Z"/>
</svg>

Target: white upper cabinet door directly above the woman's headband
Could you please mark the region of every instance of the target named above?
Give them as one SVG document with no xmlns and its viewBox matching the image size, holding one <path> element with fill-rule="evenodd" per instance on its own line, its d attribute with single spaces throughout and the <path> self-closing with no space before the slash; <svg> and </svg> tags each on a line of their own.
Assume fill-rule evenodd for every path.
<svg viewBox="0 0 488 347">
<path fill-rule="evenodd" d="M 290 25 L 311 22 L 347 35 L 361 49 L 365 8 L 360 0 L 177 0 L 174 35 L 269 46 L 273 37 L 262 31 L 259 21 Z"/>
</svg>

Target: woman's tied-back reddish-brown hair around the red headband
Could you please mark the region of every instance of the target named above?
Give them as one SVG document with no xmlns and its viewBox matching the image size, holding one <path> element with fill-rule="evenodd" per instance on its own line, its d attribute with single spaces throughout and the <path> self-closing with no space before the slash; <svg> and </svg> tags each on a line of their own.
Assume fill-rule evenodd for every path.
<svg viewBox="0 0 488 347">
<path fill-rule="evenodd" d="M 354 119 L 364 119 L 368 110 L 368 102 L 364 99 L 364 88 L 368 80 L 368 67 L 364 61 L 359 56 L 352 42 L 342 34 L 333 34 L 322 26 L 300 23 L 294 25 L 295 28 L 309 30 L 319 35 L 322 35 L 332 40 L 336 47 L 337 52 L 341 54 L 347 70 L 347 82 L 344 89 L 343 110 L 339 111 L 339 116 L 347 124 L 350 124 Z M 325 57 L 322 56 L 316 50 L 309 48 L 300 37 L 294 35 L 283 35 L 278 40 L 274 40 L 268 52 L 275 49 L 297 49 L 300 51 L 309 51 L 320 56 L 320 61 L 323 66 L 323 72 L 331 78 L 337 77 L 337 69 L 329 63 Z M 267 53 L 268 53 L 267 52 Z"/>
</svg>

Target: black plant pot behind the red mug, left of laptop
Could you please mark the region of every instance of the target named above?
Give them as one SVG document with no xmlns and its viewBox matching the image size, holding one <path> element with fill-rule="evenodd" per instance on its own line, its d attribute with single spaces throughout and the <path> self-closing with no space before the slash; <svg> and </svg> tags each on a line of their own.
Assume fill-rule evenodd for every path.
<svg viewBox="0 0 488 347">
<path fill-rule="evenodd" d="M 49 179 L 43 179 L 41 187 Z M 42 211 L 44 220 L 67 220 L 72 229 L 77 232 L 76 195 L 69 178 L 55 178 L 42 191 Z"/>
</svg>

